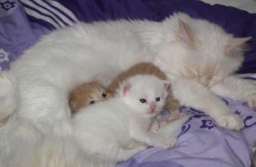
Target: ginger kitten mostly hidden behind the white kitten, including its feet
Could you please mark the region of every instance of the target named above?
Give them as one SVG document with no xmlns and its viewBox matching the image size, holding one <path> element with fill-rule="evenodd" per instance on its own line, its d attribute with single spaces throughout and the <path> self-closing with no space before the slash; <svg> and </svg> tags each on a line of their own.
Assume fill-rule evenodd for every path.
<svg viewBox="0 0 256 167">
<path fill-rule="evenodd" d="M 164 74 L 157 66 L 154 66 L 154 64 L 150 62 L 138 63 L 131 66 L 128 70 L 123 71 L 121 74 L 118 74 L 118 76 L 110 82 L 110 85 L 108 85 L 107 88 L 99 83 L 98 80 L 94 80 L 93 82 L 86 82 L 72 89 L 69 97 L 71 113 L 77 113 L 78 109 L 92 105 L 98 101 L 105 101 L 118 92 L 118 88 L 122 82 L 127 78 L 138 74 L 152 74 L 159 79 L 167 79 L 166 74 Z M 167 89 L 167 93 L 168 95 L 166 97 L 164 108 L 170 111 L 170 115 L 162 117 L 161 114 L 158 114 L 158 117 L 152 118 L 150 131 L 156 132 L 161 126 L 182 117 L 178 112 L 178 101 L 175 100 L 171 94 L 171 86 Z"/>
</svg>

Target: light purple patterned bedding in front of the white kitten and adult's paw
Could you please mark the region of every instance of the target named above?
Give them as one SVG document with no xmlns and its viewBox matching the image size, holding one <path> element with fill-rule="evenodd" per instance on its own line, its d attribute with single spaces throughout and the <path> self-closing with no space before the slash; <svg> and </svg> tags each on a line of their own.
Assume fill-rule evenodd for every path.
<svg viewBox="0 0 256 167">
<path fill-rule="evenodd" d="M 179 129 L 178 143 L 173 149 L 146 149 L 118 167 L 250 167 L 256 112 L 238 101 L 223 101 L 243 117 L 242 132 L 222 129 L 204 113 L 182 107 L 182 113 L 190 114 L 190 119 Z"/>
</svg>

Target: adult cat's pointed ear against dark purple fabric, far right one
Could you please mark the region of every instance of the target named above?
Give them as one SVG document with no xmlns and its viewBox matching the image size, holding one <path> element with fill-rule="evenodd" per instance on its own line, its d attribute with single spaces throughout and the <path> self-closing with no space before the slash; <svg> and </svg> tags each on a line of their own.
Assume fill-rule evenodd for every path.
<svg viewBox="0 0 256 167">
<path fill-rule="evenodd" d="M 226 45 L 225 52 L 226 54 L 230 54 L 233 50 L 241 49 L 242 46 L 245 45 L 246 42 L 248 42 L 251 39 L 251 37 L 246 38 L 233 38 L 231 41 Z"/>
</svg>

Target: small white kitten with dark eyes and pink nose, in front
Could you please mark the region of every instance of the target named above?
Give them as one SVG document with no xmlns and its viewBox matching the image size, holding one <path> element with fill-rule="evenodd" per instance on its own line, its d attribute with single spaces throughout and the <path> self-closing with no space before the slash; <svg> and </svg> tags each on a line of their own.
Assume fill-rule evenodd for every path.
<svg viewBox="0 0 256 167">
<path fill-rule="evenodd" d="M 125 161 L 146 149 L 130 149 L 130 142 L 168 147 L 170 138 L 152 133 L 150 118 L 165 105 L 169 83 L 153 75 L 127 78 L 115 97 L 74 114 L 74 131 L 84 151 L 103 161 Z"/>
</svg>

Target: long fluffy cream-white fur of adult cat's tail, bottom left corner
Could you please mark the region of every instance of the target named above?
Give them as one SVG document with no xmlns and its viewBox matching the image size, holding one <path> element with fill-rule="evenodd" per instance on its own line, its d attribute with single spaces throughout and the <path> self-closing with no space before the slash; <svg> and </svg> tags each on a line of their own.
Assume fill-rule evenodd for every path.
<svg viewBox="0 0 256 167">
<path fill-rule="evenodd" d="M 14 116 L 15 117 L 15 116 Z M 28 120 L 10 119 L 0 128 L 1 167 L 114 167 L 82 151 L 69 134 L 38 132 Z"/>
</svg>

